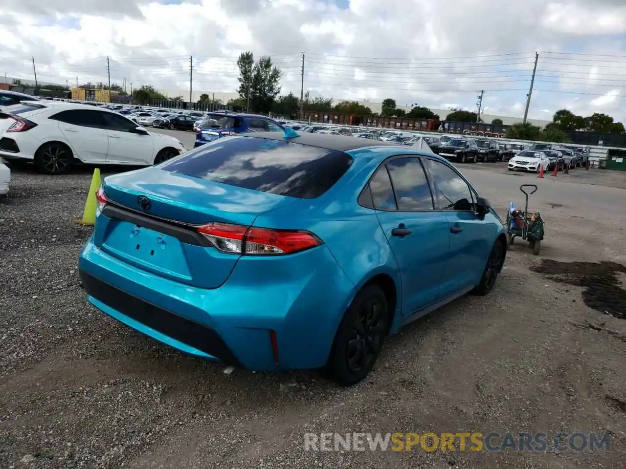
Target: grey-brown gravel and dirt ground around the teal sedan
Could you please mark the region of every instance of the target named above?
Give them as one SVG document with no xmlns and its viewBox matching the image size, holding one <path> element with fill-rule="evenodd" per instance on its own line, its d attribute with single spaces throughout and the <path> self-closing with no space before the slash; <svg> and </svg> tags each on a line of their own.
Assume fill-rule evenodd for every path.
<svg viewBox="0 0 626 469">
<path fill-rule="evenodd" d="M 90 228 L 73 224 L 90 169 L 14 168 L 0 201 L 0 468 L 625 467 L 626 191 L 607 186 L 626 174 L 540 180 L 502 168 L 465 172 L 501 213 L 522 201 L 520 181 L 539 181 L 541 255 L 513 246 L 491 295 L 404 328 L 348 389 L 316 372 L 227 375 L 99 313 L 76 268 Z M 335 431 L 609 432 L 613 447 L 303 450 L 305 432 Z"/>
</svg>

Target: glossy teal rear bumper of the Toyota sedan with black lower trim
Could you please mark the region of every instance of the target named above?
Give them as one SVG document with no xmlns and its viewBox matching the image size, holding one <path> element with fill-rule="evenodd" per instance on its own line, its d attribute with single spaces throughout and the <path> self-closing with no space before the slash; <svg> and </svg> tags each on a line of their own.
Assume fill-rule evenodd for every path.
<svg viewBox="0 0 626 469">
<path fill-rule="evenodd" d="M 303 257 L 300 268 L 282 266 L 272 275 L 275 281 L 267 281 L 259 277 L 257 264 L 267 260 L 255 258 L 240 261 L 230 278 L 212 290 L 131 266 L 91 238 L 79 269 L 92 305 L 180 351 L 253 371 L 310 369 L 326 363 L 354 288 L 326 246 L 314 249 L 314 270 Z"/>
</svg>

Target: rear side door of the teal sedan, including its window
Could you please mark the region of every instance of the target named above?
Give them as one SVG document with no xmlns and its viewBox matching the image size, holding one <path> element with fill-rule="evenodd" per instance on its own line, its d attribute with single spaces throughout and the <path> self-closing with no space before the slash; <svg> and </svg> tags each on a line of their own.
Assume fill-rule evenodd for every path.
<svg viewBox="0 0 626 469">
<path fill-rule="evenodd" d="M 387 160 L 369 183 L 372 204 L 398 263 L 402 311 L 410 315 L 439 299 L 449 248 L 446 214 L 434 211 L 419 158 Z"/>
</svg>

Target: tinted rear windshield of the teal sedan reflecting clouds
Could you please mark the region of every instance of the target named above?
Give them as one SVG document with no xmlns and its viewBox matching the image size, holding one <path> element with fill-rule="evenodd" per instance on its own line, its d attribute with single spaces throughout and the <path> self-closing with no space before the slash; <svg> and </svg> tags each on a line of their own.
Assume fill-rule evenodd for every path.
<svg viewBox="0 0 626 469">
<path fill-rule="evenodd" d="M 312 199 L 330 189 L 351 164 L 352 157 L 341 151 L 234 136 L 204 144 L 162 169 L 245 189 Z"/>
</svg>

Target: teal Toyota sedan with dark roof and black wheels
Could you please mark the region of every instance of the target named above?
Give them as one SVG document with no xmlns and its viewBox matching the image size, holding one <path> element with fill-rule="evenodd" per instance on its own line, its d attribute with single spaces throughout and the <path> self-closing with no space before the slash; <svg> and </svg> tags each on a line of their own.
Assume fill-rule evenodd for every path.
<svg viewBox="0 0 626 469">
<path fill-rule="evenodd" d="M 342 385 L 387 335 L 506 255 L 490 203 L 432 153 L 324 134 L 246 133 L 108 176 L 80 255 L 90 303 L 191 355 Z"/>
</svg>

